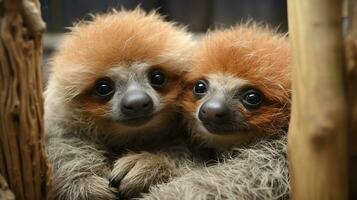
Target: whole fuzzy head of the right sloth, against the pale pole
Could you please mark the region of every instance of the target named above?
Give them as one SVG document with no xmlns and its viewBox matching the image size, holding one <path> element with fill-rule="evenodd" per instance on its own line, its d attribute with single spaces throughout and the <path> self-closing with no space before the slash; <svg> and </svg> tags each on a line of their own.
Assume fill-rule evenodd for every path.
<svg viewBox="0 0 357 200">
<path fill-rule="evenodd" d="M 289 60 L 288 42 L 268 28 L 237 26 L 205 36 L 182 102 L 192 137 L 228 148 L 286 129 Z"/>
</svg>

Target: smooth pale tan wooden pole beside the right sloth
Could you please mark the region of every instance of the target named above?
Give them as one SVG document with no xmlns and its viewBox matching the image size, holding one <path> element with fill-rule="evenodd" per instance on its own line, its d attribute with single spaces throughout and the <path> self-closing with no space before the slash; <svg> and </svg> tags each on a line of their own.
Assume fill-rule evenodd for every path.
<svg viewBox="0 0 357 200">
<path fill-rule="evenodd" d="M 288 158 L 293 199 L 347 199 L 341 0 L 289 0 L 293 52 Z"/>
</svg>

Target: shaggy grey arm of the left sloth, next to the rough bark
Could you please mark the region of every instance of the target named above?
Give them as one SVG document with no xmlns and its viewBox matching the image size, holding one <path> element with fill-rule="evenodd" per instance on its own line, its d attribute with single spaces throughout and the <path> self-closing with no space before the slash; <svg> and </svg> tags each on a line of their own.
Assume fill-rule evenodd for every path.
<svg viewBox="0 0 357 200">
<path fill-rule="evenodd" d="M 53 167 L 55 199 L 116 199 L 109 187 L 105 151 L 80 138 L 49 137 L 47 151 Z"/>
</svg>

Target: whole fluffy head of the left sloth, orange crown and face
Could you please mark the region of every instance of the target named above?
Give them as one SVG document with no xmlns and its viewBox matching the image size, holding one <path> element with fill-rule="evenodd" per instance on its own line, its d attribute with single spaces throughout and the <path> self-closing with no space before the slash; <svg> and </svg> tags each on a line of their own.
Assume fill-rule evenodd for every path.
<svg viewBox="0 0 357 200">
<path fill-rule="evenodd" d="M 140 9 L 75 25 L 52 59 L 46 118 L 106 135 L 159 132 L 174 119 L 191 36 Z"/>
</svg>

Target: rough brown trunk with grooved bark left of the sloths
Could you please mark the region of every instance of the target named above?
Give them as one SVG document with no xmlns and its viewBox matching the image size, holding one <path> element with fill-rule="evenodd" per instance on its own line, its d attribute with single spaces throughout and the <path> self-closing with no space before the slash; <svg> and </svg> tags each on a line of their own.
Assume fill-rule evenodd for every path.
<svg viewBox="0 0 357 200">
<path fill-rule="evenodd" d="M 0 1 L 0 14 L 0 174 L 16 199 L 51 199 L 39 1 Z"/>
</svg>

